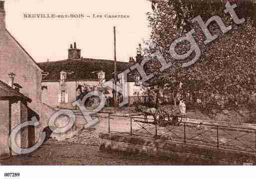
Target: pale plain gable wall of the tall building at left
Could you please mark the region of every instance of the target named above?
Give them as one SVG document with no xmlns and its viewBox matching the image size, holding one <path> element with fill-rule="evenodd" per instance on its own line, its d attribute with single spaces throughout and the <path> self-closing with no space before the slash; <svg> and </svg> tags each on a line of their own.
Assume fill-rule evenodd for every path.
<svg viewBox="0 0 256 179">
<path fill-rule="evenodd" d="M 15 73 L 14 83 L 17 83 L 22 87 L 20 89 L 20 93 L 32 100 L 32 102 L 27 105 L 39 116 L 40 114 L 44 114 L 44 111 L 41 112 L 41 71 L 42 70 L 22 48 L 22 46 L 20 46 L 11 34 L 4 29 L 4 31 L 0 33 L 0 80 L 8 84 L 8 73 Z M 19 114 L 20 105 L 15 106 L 16 105 L 14 104 L 12 107 L 12 118 L 16 115 L 16 117 L 19 118 L 20 123 L 20 118 L 25 118 L 25 116 L 22 117 Z M 21 110 L 25 109 L 21 108 Z M 45 124 L 47 121 L 43 120 L 47 120 L 48 114 L 47 117 L 40 118 L 40 123 Z M 8 119 L 5 118 L 4 120 L 7 121 Z M 15 119 L 12 121 L 15 121 Z M 42 125 L 40 129 L 36 130 L 37 136 L 43 127 L 44 126 Z M 27 129 L 24 129 L 24 134 L 27 133 L 26 130 Z M 26 146 L 27 144 L 24 145 Z"/>
</svg>

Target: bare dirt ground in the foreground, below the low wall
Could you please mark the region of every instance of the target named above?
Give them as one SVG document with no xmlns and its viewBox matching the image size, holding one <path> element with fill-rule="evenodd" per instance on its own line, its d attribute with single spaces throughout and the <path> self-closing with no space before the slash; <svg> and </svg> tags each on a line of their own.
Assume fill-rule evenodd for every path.
<svg viewBox="0 0 256 179">
<path fill-rule="evenodd" d="M 37 151 L 1 160 L 1 165 L 211 165 L 211 161 L 165 159 L 99 151 L 98 146 L 47 141 Z"/>
</svg>

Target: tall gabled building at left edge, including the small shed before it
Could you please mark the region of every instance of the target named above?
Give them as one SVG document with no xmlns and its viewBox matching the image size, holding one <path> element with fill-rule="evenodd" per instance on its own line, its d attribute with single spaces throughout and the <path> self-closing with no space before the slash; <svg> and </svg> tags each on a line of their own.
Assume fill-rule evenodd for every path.
<svg viewBox="0 0 256 179">
<path fill-rule="evenodd" d="M 28 52 L 5 29 L 4 1 L 0 1 L 0 90 L 6 92 L 6 96 L 0 95 L 1 104 L 4 104 L 0 107 L 0 120 L 2 120 L 0 126 L 4 131 L 1 132 L 0 148 L 3 153 L 9 150 L 6 148 L 8 142 L 6 135 L 22 121 L 31 120 L 35 116 L 41 124 L 40 127 L 29 131 L 29 135 L 33 136 L 31 137 L 33 140 L 29 140 L 30 146 L 39 138 L 39 132 L 47 126 L 48 118 L 53 110 L 41 103 L 42 72 Z M 9 87 L 6 87 L 6 84 Z M 16 100 L 13 101 L 12 99 L 15 98 Z M 8 107 L 10 104 L 11 108 Z M 8 108 L 9 113 L 6 114 Z M 24 110 L 27 114 L 20 112 Z M 7 128 L 8 120 L 11 124 L 10 129 Z M 24 144 L 24 146 L 27 145 Z"/>
</svg>

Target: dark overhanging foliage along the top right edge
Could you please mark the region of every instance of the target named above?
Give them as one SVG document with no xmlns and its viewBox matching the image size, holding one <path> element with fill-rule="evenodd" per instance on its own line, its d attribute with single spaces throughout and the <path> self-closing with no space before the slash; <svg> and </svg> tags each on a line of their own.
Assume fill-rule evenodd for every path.
<svg viewBox="0 0 256 179">
<path fill-rule="evenodd" d="M 228 0 L 152 0 L 152 9 L 161 8 L 164 4 L 172 7 L 175 11 L 176 27 L 190 30 L 193 25 L 190 20 L 198 15 L 203 19 L 218 14 L 223 17 L 225 4 Z M 230 3 L 236 3 L 240 8 L 237 13 L 240 17 L 252 18 L 256 25 L 256 2 L 254 0 L 229 0 Z"/>
</svg>

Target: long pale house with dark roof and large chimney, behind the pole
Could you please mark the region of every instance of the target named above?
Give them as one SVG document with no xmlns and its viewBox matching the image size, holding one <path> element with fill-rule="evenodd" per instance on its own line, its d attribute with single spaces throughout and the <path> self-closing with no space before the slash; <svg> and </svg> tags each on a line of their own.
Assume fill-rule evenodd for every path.
<svg viewBox="0 0 256 179">
<path fill-rule="evenodd" d="M 117 62 L 117 72 L 123 72 L 135 61 Z M 68 49 L 68 59 L 61 61 L 38 63 L 46 76 L 42 79 L 42 101 L 56 108 L 74 108 L 74 103 L 81 93 L 80 87 L 89 86 L 97 88 L 104 81 L 113 78 L 114 61 L 103 59 L 82 58 L 81 50 L 71 44 Z M 137 96 L 141 93 L 138 84 L 138 75 L 127 77 L 127 87 L 124 77 L 118 79 L 118 85 L 127 90 L 128 96 Z M 136 82 L 137 80 L 137 82 Z M 112 90 L 105 91 L 105 95 L 111 97 Z"/>
</svg>

